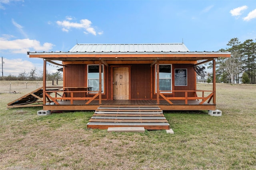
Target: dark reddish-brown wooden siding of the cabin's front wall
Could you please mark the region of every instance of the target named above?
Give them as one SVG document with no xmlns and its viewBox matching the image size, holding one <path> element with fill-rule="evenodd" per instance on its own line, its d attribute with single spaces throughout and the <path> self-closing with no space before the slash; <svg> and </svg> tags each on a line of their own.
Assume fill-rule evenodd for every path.
<svg viewBox="0 0 256 170">
<path fill-rule="evenodd" d="M 87 64 L 66 64 L 64 74 L 64 84 L 66 87 L 84 87 L 87 86 Z M 118 67 L 126 67 L 128 65 L 118 65 Z M 155 93 L 155 67 L 151 69 L 150 64 L 131 64 L 130 66 L 130 98 L 136 100 L 150 100 L 156 99 Z M 111 67 L 115 65 L 104 66 L 104 94 L 102 99 L 113 98 L 113 82 Z M 174 70 L 176 68 L 187 69 L 188 86 L 175 86 L 174 85 Z M 152 83 L 152 84 L 151 84 Z M 81 89 L 77 89 L 81 90 Z M 195 86 L 195 72 L 193 64 L 172 64 L 172 90 L 196 90 Z M 151 95 L 152 92 L 152 95 Z M 75 97 L 84 97 L 84 93 L 75 93 Z M 92 95 L 90 95 L 92 96 Z M 152 96 L 152 97 L 151 97 Z M 165 94 L 166 97 L 181 97 L 184 96 L 184 92 L 173 92 L 172 94 Z M 193 92 L 188 93 L 188 97 L 194 97 Z"/>
</svg>

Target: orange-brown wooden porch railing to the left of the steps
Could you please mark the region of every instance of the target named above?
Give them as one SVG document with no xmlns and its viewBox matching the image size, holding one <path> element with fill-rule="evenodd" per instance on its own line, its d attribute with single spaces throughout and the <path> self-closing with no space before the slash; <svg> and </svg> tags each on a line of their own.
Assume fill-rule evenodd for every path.
<svg viewBox="0 0 256 170">
<path fill-rule="evenodd" d="M 78 87 L 80 88 L 80 87 Z M 81 87 L 82 88 L 82 87 Z M 63 90 L 60 90 L 63 89 Z M 60 105 L 59 101 L 69 100 L 70 104 L 74 104 L 74 100 L 82 100 L 85 101 L 85 105 L 90 104 L 96 97 L 99 96 L 99 91 L 91 91 L 91 90 L 64 90 L 67 88 L 60 88 L 59 90 L 46 90 L 45 96 L 48 102 L 54 102 L 56 105 Z M 85 97 L 74 97 L 76 93 L 83 93 Z M 89 95 L 90 94 L 90 95 Z M 92 96 L 92 94 L 94 94 Z M 59 100 L 59 101 L 58 101 Z"/>
</svg>

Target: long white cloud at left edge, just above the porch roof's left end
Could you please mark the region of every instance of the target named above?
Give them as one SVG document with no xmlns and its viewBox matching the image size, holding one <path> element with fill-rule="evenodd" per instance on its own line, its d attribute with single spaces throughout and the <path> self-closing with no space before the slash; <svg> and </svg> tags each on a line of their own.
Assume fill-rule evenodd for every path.
<svg viewBox="0 0 256 170">
<path fill-rule="evenodd" d="M 8 40 L 0 37 L 0 50 L 10 50 L 12 53 L 26 54 L 27 51 L 49 51 L 54 46 L 52 43 L 40 44 L 35 39 L 14 39 Z"/>
</svg>

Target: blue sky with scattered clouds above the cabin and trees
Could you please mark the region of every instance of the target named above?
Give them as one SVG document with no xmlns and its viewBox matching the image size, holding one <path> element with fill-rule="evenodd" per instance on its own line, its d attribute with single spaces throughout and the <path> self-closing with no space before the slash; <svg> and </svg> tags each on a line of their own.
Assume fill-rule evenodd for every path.
<svg viewBox="0 0 256 170">
<path fill-rule="evenodd" d="M 256 39 L 256 0 L 0 0 L 4 76 L 41 74 L 42 59 L 27 51 L 182 41 L 190 51 L 218 51 L 235 37 Z"/>
</svg>

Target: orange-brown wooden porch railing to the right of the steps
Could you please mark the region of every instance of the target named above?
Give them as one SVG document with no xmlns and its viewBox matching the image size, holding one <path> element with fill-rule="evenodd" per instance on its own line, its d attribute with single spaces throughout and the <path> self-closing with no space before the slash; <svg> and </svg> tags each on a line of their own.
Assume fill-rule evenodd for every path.
<svg viewBox="0 0 256 170">
<path fill-rule="evenodd" d="M 168 92 L 168 93 L 170 93 L 170 92 L 174 92 L 174 93 L 175 92 L 184 92 L 185 94 L 184 94 L 184 97 L 166 97 L 166 96 L 164 96 L 164 95 L 166 95 L 166 94 L 164 94 L 164 92 Z M 193 92 L 195 97 L 188 97 L 189 92 L 190 93 Z M 201 92 L 202 92 L 201 95 L 198 94 L 198 93 L 201 93 Z M 210 101 L 212 100 L 212 98 L 214 96 L 214 91 L 212 91 L 212 90 L 171 90 L 171 91 L 162 91 L 161 90 L 159 94 L 169 104 L 173 104 L 171 102 L 171 100 L 184 100 L 185 104 L 188 104 L 188 100 L 198 100 L 198 101 L 200 101 L 199 104 L 202 105 L 205 102 L 210 103 Z"/>
</svg>

